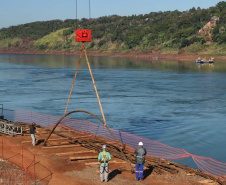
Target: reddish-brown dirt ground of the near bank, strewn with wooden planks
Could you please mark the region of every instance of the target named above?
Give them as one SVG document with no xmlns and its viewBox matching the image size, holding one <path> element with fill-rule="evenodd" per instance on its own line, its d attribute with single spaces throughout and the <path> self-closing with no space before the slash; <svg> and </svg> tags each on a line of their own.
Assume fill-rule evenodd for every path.
<svg viewBox="0 0 226 185">
<path fill-rule="evenodd" d="M 57 127 L 57 129 L 55 130 L 55 134 L 53 134 L 51 136 L 51 139 L 48 141 L 48 146 L 44 147 L 42 142 L 48 136 L 49 129 L 52 129 L 52 127 L 37 128 L 38 141 L 36 147 L 33 147 L 31 145 L 31 138 L 28 133 L 24 133 L 23 136 L 16 137 L 4 135 L 4 143 L 6 143 L 6 141 L 8 142 L 8 145 L 5 145 L 4 147 L 5 152 L 7 152 L 7 154 L 9 154 L 11 151 L 16 152 L 15 147 L 12 146 L 23 145 L 23 157 L 25 159 L 29 159 L 29 155 L 31 155 L 31 153 L 35 154 L 36 164 L 42 165 L 42 168 L 39 168 L 37 165 L 35 166 L 36 182 L 39 182 L 40 184 L 101 184 L 99 179 L 99 163 L 97 162 L 98 151 L 93 150 L 91 145 L 100 144 L 99 139 L 103 138 L 96 138 L 97 143 L 91 143 L 90 139 L 92 137 L 86 137 L 90 134 L 87 135 L 84 132 L 78 131 L 76 131 L 76 133 L 69 130 L 65 130 L 61 127 Z M 29 128 L 25 130 L 29 130 Z M 80 134 L 78 135 L 78 133 L 83 133 L 83 136 L 81 136 Z M 76 143 L 74 143 L 75 140 Z M 87 144 L 89 145 L 89 147 Z M 176 163 L 172 163 L 169 161 L 169 169 L 173 167 L 175 170 L 177 170 L 177 173 L 171 173 L 167 170 L 161 171 L 157 170 L 157 168 L 145 168 L 144 180 L 142 182 L 138 182 L 135 180 L 135 174 L 132 174 L 128 170 L 125 161 L 115 157 L 115 153 L 110 147 L 111 144 L 108 143 L 107 146 L 108 150 L 110 150 L 110 153 L 112 155 L 112 160 L 109 162 L 110 171 L 108 184 L 137 185 L 150 184 L 150 182 L 152 184 L 158 185 L 223 184 L 219 181 L 217 182 L 215 179 L 211 180 L 209 178 L 205 178 L 205 174 L 203 173 L 202 175 L 204 175 L 204 177 L 202 177 L 202 175 L 196 175 L 194 172 L 198 171 L 195 171 L 188 167 L 185 167 L 185 169 L 181 168 L 179 164 L 178 166 L 175 166 L 174 164 Z M 77 160 L 71 160 L 72 158 L 76 158 Z M 15 161 L 20 161 L 19 157 L 18 160 Z M 162 160 L 159 161 L 159 163 L 162 162 Z M 43 167 L 48 170 L 43 170 Z M 161 165 L 159 167 L 161 167 Z M 33 173 L 33 171 L 31 172 Z"/>
</svg>

